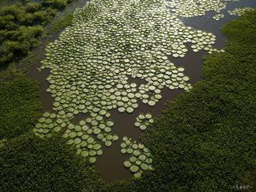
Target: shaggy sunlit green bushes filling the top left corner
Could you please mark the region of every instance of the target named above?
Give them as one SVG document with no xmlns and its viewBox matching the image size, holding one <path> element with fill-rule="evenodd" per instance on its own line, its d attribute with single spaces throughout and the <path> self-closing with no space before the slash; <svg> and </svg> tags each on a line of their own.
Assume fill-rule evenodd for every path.
<svg viewBox="0 0 256 192">
<path fill-rule="evenodd" d="M 43 35 L 43 26 L 63 9 L 67 0 L 17 2 L 0 9 L 0 67 L 19 60 L 36 46 Z"/>
</svg>

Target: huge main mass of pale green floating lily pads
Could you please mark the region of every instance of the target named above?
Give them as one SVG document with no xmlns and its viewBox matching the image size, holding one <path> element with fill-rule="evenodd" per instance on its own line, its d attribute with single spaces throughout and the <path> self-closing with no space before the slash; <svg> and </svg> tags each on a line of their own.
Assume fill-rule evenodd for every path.
<svg viewBox="0 0 256 192">
<path fill-rule="evenodd" d="M 206 9 L 191 9 L 192 15 L 224 5 L 204 3 Z M 65 129 L 67 144 L 94 163 L 102 145 L 118 139 L 111 134 L 114 122 L 106 120 L 109 110 L 132 113 L 139 99 L 153 107 L 164 87 L 189 91 L 185 69 L 175 67 L 168 57 L 185 57 L 188 46 L 194 52 L 217 51 L 216 36 L 185 26 L 178 15 L 182 12 L 171 13 L 162 0 L 92 0 L 77 9 L 72 25 L 47 46 L 41 69 L 50 69 L 47 91 L 55 100 L 54 113 L 43 114 L 35 134 L 50 137 Z M 147 83 L 130 84 L 129 76 Z M 89 117 L 74 125 L 71 120 L 78 113 Z"/>
</svg>

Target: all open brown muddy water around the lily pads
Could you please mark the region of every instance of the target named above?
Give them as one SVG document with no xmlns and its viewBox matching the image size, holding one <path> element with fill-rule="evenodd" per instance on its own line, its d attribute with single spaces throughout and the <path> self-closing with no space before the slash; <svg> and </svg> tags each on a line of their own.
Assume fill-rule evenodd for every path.
<svg viewBox="0 0 256 192">
<path fill-rule="evenodd" d="M 64 12 L 61 12 L 57 15 L 57 18 L 68 14 L 70 12 L 74 12 L 75 8 L 79 8 L 85 5 L 83 0 L 77 0 L 71 5 L 64 9 Z M 227 9 L 224 9 L 222 13 L 225 15 L 223 19 L 220 21 L 216 21 L 212 19 L 213 15 L 216 15 L 214 12 L 208 12 L 206 15 L 202 17 L 194 17 L 189 19 L 182 19 L 182 22 L 185 23 L 186 26 L 192 26 L 195 29 L 202 29 L 206 30 L 207 32 L 213 33 L 216 35 L 216 44 L 215 47 L 217 49 L 221 49 L 225 43 L 225 37 L 221 35 L 220 28 L 223 24 L 229 22 L 232 19 L 236 19 L 236 16 L 232 16 L 227 13 L 227 10 L 234 9 L 237 7 L 254 7 L 256 8 L 255 0 L 241 0 L 240 2 L 230 2 L 227 5 Z M 50 26 L 47 26 L 47 29 L 50 29 Z M 40 67 L 40 60 L 43 60 L 43 53 L 44 53 L 44 46 L 47 42 L 51 42 L 54 39 L 57 39 L 59 33 L 54 33 L 51 36 L 47 36 L 46 38 L 42 39 L 42 44 L 40 47 L 34 50 L 35 52 L 35 63 L 33 67 L 29 70 L 29 76 L 33 77 L 34 79 L 40 81 L 40 89 L 41 89 L 41 96 L 40 99 L 43 102 L 43 111 L 51 111 L 52 104 L 54 98 L 50 97 L 50 94 L 47 93 L 46 89 L 49 86 L 46 78 L 50 74 L 50 70 L 42 70 L 38 71 L 37 68 Z M 193 53 L 192 50 L 189 50 L 189 53 L 182 59 L 175 59 L 170 57 L 169 59 L 171 62 L 175 63 L 177 67 L 184 67 L 185 74 L 188 75 L 191 79 L 191 83 L 195 84 L 195 82 L 202 80 L 202 68 L 203 68 L 203 61 L 202 56 L 206 53 L 200 51 L 199 53 Z M 139 79 L 130 78 L 130 82 L 136 82 L 137 84 L 143 84 L 144 81 Z M 122 113 L 120 114 L 117 110 L 111 111 L 111 118 L 115 122 L 115 125 L 112 129 L 112 133 L 119 135 L 119 140 L 114 142 L 111 147 L 103 147 L 103 154 L 102 156 L 97 157 L 97 161 L 95 163 L 95 167 L 99 170 L 99 174 L 103 180 L 106 182 L 111 182 L 113 180 L 124 180 L 129 179 L 132 177 L 132 174 L 129 170 L 127 170 L 123 166 L 123 162 L 129 157 L 123 155 L 119 152 L 120 150 L 120 143 L 123 136 L 131 137 L 134 140 L 140 141 L 140 135 L 142 131 L 137 129 L 133 123 L 137 115 L 141 112 L 150 112 L 154 117 L 159 115 L 161 111 L 164 109 L 164 104 L 167 101 L 174 100 L 181 94 L 182 91 L 177 89 L 174 91 L 168 90 L 168 88 L 164 88 L 162 90 L 162 99 L 154 106 L 154 108 L 144 105 L 141 101 L 139 101 L 139 108 L 133 111 L 132 114 Z M 86 115 L 78 114 L 73 119 L 73 122 L 79 122 L 81 119 L 86 118 Z"/>
</svg>

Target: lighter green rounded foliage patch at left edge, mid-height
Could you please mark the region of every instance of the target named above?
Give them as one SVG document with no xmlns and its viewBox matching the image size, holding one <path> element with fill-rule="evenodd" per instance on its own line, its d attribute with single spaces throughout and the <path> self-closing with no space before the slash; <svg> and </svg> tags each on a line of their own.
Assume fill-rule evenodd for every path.
<svg viewBox="0 0 256 192">
<path fill-rule="evenodd" d="M 12 138 L 33 129 L 40 117 L 39 88 L 25 75 L 0 82 L 0 139 Z"/>
</svg>

